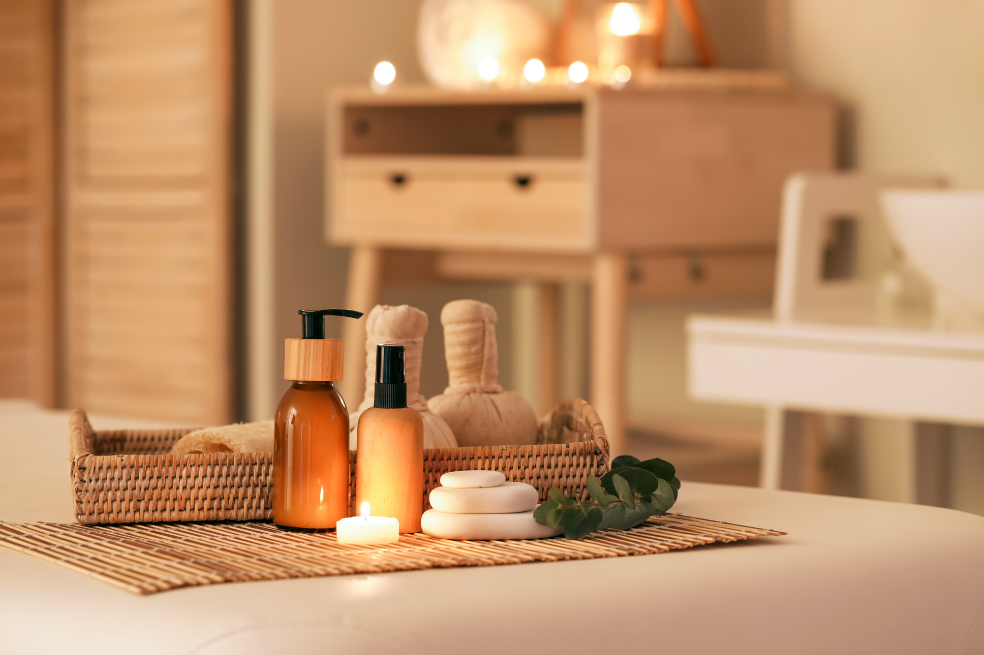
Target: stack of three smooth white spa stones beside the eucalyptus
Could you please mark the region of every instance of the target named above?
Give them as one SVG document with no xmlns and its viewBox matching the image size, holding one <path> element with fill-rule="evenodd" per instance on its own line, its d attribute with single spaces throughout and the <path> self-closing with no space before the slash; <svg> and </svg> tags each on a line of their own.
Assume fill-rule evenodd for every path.
<svg viewBox="0 0 984 655">
<path fill-rule="evenodd" d="M 536 489 L 506 482 L 499 471 L 451 471 L 430 493 L 432 509 L 420 520 L 423 531 L 440 539 L 543 539 L 564 531 L 533 518 Z"/>
</svg>

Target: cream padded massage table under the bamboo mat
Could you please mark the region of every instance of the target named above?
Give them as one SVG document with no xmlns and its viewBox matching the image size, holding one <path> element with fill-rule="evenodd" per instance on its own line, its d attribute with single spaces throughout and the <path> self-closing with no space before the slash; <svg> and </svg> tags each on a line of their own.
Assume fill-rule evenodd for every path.
<svg viewBox="0 0 984 655">
<path fill-rule="evenodd" d="M 68 412 L 0 402 L 0 520 L 71 521 L 68 489 Z M 674 511 L 789 534 L 143 597 L 0 548 L 0 653 L 984 653 L 980 516 L 686 481 Z"/>
</svg>

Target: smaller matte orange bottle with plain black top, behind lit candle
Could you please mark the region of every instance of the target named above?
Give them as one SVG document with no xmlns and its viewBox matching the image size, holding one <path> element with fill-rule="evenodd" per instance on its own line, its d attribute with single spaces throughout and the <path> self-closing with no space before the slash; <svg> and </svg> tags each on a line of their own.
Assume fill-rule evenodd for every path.
<svg viewBox="0 0 984 655">
<path fill-rule="evenodd" d="M 376 397 L 359 416 L 355 507 L 393 516 L 400 532 L 419 532 L 424 504 L 424 422 L 406 406 L 402 345 L 376 346 Z"/>
</svg>

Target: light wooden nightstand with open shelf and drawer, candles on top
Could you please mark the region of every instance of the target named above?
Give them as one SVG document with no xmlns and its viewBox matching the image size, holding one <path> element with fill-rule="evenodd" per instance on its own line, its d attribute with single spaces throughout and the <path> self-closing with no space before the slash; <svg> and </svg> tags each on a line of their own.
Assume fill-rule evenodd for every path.
<svg viewBox="0 0 984 655">
<path fill-rule="evenodd" d="M 458 277 L 589 281 L 590 400 L 618 453 L 630 259 L 656 295 L 768 294 L 782 182 L 832 167 L 834 142 L 830 99 L 781 85 L 338 90 L 326 236 L 353 247 L 346 307 L 362 311 L 388 248 Z M 364 330 L 345 330 L 358 398 Z"/>
</svg>

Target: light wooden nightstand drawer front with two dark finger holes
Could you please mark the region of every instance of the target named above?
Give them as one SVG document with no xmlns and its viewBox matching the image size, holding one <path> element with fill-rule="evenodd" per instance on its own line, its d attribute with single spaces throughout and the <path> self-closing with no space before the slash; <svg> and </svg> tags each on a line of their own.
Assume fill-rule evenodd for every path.
<svg viewBox="0 0 984 655">
<path fill-rule="evenodd" d="M 400 247 L 584 251 L 580 158 L 345 157 L 333 240 Z"/>
</svg>

